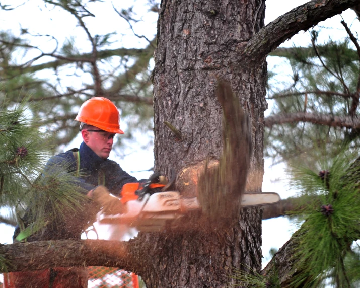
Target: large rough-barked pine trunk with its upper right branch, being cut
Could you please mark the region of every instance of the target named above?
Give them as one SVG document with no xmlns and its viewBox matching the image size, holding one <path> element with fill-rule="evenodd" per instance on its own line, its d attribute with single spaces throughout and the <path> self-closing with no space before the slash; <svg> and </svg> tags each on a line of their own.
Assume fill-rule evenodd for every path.
<svg viewBox="0 0 360 288">
<path fill-rule="evenodd" d="M 266 55 L 300 30 L 359 3 L 360 0 L 313 0 L 263 27 L 264 0 L 162 0 L 153 74 L 156 170 L 168 175 L 175 168 L 179 173 L 206 158 L 219 158 L 221 109 L 214 89 L 217 79 L 224 78 L 250 114 L 252 170 L 257 178 L 254 182 L 258 183 L 252 190 L 259 190 L 267 108 Z M 176 136 L 164 121 L 181 135 Z M 178 179 L 177 186 L 185 187 L 184 180 L 186 177 Z M 129 262 L 124 258 L 103 263 L 97 249 L 92 257 L 98 255 L 102 265 L 115 263 L 121 268 L 132 268 L 148 287 L 222 287 L 231 282 L 233 267 L 241 268 L 243 264 L 260 271 L 260 209 L 244 209 L 238 219 L 224 227 L 198 215 L 186 219 L 183 227 L 182 231 L 140 233 L 126 244 L 123 255 L 128 255 Z M 54 259 L 73 256 L 63 253 L 63 245 L 50 244 Z M 28 244 L 16 245 L 20 249 Z M 19 255 L 13 257 L 11 247 L 0 248 L 6 250 L 7 259 L 16 267 L 25 260 Z M 84 265 L 88 263 L 86 255 Z"/>
</svg>

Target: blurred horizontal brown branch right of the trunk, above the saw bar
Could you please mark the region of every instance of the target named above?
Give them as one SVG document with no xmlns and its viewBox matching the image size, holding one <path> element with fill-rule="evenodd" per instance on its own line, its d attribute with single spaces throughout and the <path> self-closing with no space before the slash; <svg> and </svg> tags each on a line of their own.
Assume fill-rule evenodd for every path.
<svg viewBox="0 0 360 288">
<path fill-rule="evenodd" d="M 360 128 L 360 118 L 351 116 L 333 116 L 316 113 L 297 112 L 274 115 L 264 119 L 265 127 L 271 128 L 275 124 L 310 122 L 330 127 Z"/>
</svg>

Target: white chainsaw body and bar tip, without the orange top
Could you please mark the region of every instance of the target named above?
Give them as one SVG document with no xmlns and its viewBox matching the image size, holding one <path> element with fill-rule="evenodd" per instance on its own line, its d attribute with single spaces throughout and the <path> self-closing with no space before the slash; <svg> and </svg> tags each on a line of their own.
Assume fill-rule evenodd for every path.
<svg viewBox="0 0 360 288">
<path fill-rule="evenodd" d="M 245 193 L 241 206 L 251 207 L 274 204 L 280 201 L 277 193 Z M 158 192 L 146 194 L 141 200 L 125 203 L 127 212 L 116 215 L 100 215 L 100 223 L 127 224 L 139 231 L 163 231 L 166 227 L 174 228 L 175 220 L 190 211 L 200 211 L 196 197 L 182 197 L 179 192 Z"/>
</svg>

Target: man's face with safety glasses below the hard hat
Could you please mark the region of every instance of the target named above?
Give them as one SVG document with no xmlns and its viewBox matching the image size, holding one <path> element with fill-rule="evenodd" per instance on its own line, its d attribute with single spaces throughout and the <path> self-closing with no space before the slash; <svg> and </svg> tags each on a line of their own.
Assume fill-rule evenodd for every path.
<svg viewBox="0 0 360 288">
<path fill-rule="evenodd" d="M 94 131 L 95 130 L 95 131 Z M 112 149 L 116 134 L 102 131 L 99 128 L 84 129 L 81 131 L 84 142 L 95 154 L 102 159 L 107 159 Z"/>
</svg>

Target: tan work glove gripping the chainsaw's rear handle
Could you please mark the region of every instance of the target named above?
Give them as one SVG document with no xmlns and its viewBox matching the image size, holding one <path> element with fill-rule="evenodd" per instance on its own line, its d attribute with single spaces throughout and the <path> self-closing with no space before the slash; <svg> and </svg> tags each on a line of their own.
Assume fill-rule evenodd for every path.
<svg viewBox="0 0 360 288">
<path fill-rule="evenodd" d="M 120 199 L 111 195 L 103 185 L 95 187 L 88 196 L 102 207 L 105 214 L 114 215 L 127 212 L 126 206 L 120 202 Z"/>
</svg>

